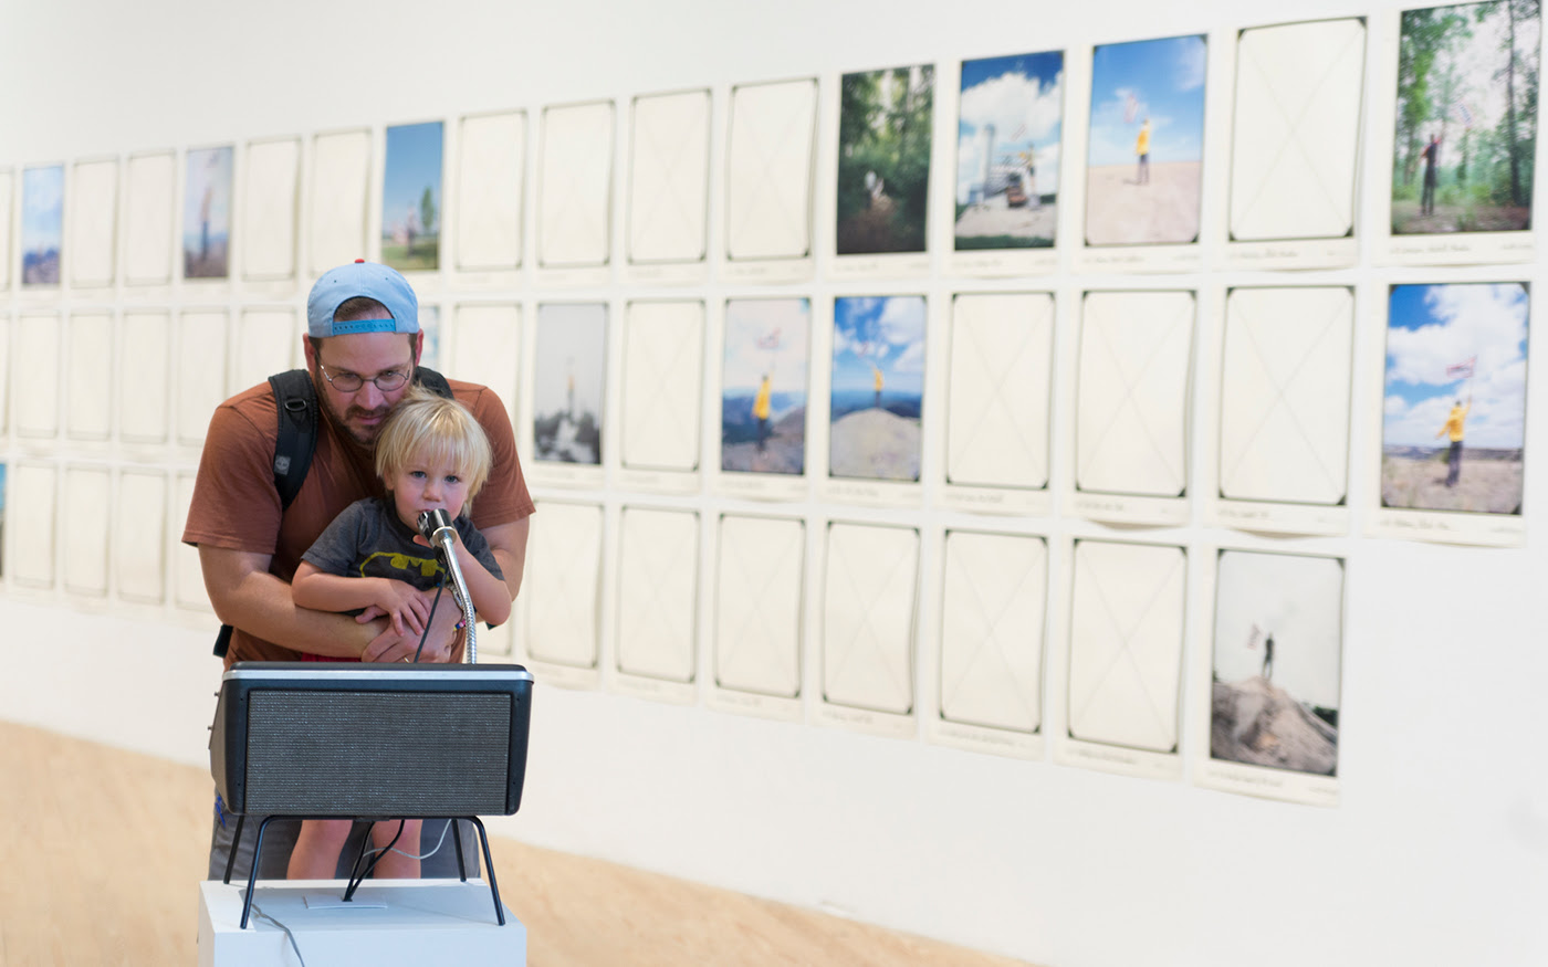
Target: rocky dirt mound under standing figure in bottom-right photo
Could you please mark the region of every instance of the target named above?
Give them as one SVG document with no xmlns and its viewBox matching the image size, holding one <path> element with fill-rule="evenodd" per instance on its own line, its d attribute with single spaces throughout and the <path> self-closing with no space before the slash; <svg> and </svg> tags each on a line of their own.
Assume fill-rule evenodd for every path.
<svg viewBox="0 0 1548 967">
<path fill-rule="evenodd" d="M 1209 755 L 1232 763 L 1334 775 L 1339 730 L 1263 676 L 1214 684 Z"/>
</svg>

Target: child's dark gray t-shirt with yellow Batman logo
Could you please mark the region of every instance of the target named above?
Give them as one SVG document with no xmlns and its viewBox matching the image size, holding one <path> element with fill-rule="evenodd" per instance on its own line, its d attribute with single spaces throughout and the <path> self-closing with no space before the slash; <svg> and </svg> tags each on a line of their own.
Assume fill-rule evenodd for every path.
<svg viewBox="0 0 1548 967">
<path fill-rule="evenodd" d="M 505 580 L 489 542 L 467 515 L 460 515 L 452 526 L 478 563 Z M 392 504 L 379 497 L 367 497 L 334 517 L 328 529 L 302 554 L 302 560 L 328 574 L 390 577 L 420 591 L 433 591 L 441 583 L 444 568 L 432 548 L 413 543 L 416 535 L 418 531 L 398 520 Z"/>
</svg>

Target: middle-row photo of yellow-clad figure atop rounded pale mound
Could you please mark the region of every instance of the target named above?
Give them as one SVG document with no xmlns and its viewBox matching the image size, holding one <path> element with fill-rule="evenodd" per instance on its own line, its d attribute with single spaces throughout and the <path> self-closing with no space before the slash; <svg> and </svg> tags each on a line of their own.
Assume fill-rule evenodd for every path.
<svg viewBox="0 0 1548 967">
<path fill-rule="evenodd" d="M 833 300 L 828 473 L 920 480 L 924 297 Z"/>
</svg>

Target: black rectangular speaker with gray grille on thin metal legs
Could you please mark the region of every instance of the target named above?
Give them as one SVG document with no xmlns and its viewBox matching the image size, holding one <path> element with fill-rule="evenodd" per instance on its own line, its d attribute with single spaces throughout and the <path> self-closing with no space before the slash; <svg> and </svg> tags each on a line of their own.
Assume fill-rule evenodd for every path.
<svg viewBox="0 0 1548 967">
<path fill-rule="evenodd" d="M 509 815 L 531 709 L 520 665 L 237 662 L 211 774 L 237 815 Z"/>
</svg>

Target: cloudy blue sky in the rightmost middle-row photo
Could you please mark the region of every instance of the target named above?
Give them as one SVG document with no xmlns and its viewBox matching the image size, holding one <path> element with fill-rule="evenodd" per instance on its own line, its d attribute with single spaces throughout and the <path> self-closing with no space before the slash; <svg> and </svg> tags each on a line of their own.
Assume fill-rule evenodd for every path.
<svg viewBox="0 0 1548 967">
<path fill-rule="evenodd" d="M 1528 294 L 1519 282 L 1399 285 L 1387 319 L 1382 444 L 1446 446 L 1435 433 L 1472 398 L 1466 441 L 1514 449 L 1526 430 Z M 1447 367 L 1477 357 L 1472 379 Z"/>
</svg>

